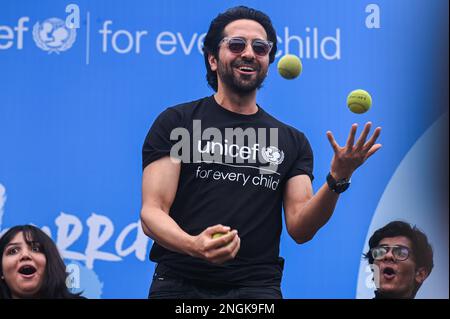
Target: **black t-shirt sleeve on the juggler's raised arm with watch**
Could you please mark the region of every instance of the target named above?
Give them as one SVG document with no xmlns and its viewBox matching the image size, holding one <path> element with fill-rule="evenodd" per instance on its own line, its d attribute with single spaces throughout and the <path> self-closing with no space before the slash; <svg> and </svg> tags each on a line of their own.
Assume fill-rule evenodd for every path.
<svg viewBox="0 0 450 319">
<path fill-rule="evenodd" d="M 313 181 L 314 157 L 311 145 L 303 133 L 298 132 L 297 137 L 297 158 L 287 173 L 286 180 L 297 175 L 308 175 Z"/>
</svg>

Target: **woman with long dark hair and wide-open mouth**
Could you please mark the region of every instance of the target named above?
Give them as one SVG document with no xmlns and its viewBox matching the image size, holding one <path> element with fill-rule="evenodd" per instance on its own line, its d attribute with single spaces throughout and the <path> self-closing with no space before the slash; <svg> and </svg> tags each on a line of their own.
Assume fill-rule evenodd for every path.
<svg viewBox="0 0 450 319">
<path fill-rule="evenodd" d="M 66 266 L 52 239 L 31 225 L 0 238 L 0 299 L 80 298 L 66 286 Z"/>
</svg>

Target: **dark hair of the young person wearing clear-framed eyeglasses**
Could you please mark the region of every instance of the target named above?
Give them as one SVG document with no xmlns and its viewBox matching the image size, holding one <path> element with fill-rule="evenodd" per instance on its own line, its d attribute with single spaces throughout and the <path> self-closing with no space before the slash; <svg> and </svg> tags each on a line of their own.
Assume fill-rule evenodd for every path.
<svg viewBox="0 0 450 319">
<path fill-rule="evenodd" d="M 416 262 L 416 268 L 424 267 L 429 275 L 433 269 L 433 248 L 428 242 L 427 236 L 416 226 L 412 227 L 410 224 L 402 221 L 393 221 L 386 226 L 378 229 L 373 233 L 369 239 L 369 251 L 364 254 L 369 264 L 373 264 L 374 259 L 370 250 L 380 243 L 384 238 L 403 236 L 408 238 L 412 243 L 412 253 Z M 415 287 L 415 292 L 420 285 Z"/>
</svg>

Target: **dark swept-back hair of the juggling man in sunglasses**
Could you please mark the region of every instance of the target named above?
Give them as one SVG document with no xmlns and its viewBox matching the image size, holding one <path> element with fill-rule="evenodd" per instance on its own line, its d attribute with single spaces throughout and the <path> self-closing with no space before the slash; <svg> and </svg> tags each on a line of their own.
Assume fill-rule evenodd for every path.
<svg viewBox="0 0 450 319">
<path fill-rule="evenodd" d="M 208 54 L 212 54 L 216 59 L 219 56 L 219 43 L 225 37 L 223 30 L 225 27 L 235 20 L 247 19 L 254 20 L 261 24 L 266 30 L 267 39 L 273 42 L 273 48 L 269 54 L 269 63 L 275 61 L 275 53 L 277 52 L 277 34 L 272 25 L 270 18 L 263 12 L 248 8 L 245 6 L 234 7 L 228 9 L 224 13 L 219 14 L 209 26 L 208 33 L 206 34 L 203 42 L 203 53 L 205 57 L 206 66 L 206 80 L 209 86 L 217 92 L 217 74 L 211 70 L 208 61 Z"/>
</svg>

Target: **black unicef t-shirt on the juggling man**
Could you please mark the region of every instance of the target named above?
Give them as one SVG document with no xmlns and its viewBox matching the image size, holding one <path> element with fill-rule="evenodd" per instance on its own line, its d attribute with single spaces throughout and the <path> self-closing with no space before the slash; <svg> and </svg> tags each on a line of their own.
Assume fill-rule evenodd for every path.
<svg viewBox="0 0 450 319">
<path fill-rule="evenodd" d="M 171 154 L 172 147 L 177 151 Z M 170 216 L 191 235 L 216 224 L 237 229 L 241 248 L 235 259 L 214 265 L 155 242 L 150 259 L 189 279 L 279 285 L 284 185 L 300 174 L 313 179 L 305 135 L 259 106 L 255 114 L 238 114 L 210 96 L 170 107 L 155 120 L 143 145 L 143 168 L 169 155 L 182 159 Z"/>
</svg>

